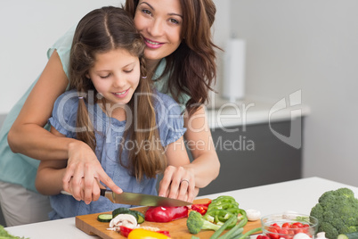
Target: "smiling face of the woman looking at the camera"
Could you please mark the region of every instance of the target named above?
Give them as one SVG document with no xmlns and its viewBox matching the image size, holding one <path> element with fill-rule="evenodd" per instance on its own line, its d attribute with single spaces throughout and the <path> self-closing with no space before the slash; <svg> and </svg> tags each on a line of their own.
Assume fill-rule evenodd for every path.
<svg viewBox="0 0 358 239">
<path fill-rule="evenodd" d="M 140 0 L 134 24 L 144 37 L 144 56 L 151 65 L 172 54 L 182 42 L 183 13 L 179 0 Z"/>
</svg>

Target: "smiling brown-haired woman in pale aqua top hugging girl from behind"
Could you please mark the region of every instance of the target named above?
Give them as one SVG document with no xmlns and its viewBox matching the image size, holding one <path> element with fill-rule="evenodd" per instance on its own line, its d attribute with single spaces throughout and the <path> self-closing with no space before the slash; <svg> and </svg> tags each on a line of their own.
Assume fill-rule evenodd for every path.
<svg viewBox="0 0 358 239">
<path fill-rule="evenodd" d="M 144 57 L 149 70 L 155 70 L 156 87 L 186 106 L 184 127 L 187 132 L 184 137 L 190 145 L 195 145 L 191 148 L 194 161 L 183 167 L 167 167 L 159 185 L 159 195 L 191 202 L 199 188 L 217 177 L 220 168 L 201 105 L 207 101 L 209 86 L 216 78 L 216 46 L 210 34 L 215 4 L 211 0 L 127 0 L 125 7 L 134 16 L 135 27 L 145 39 Z M 68 54 L 72 37 L 73 30 L 50 49 L 49 61 L 37 83 L 15 105 L 4 122 L 0 135 L 0 201 L 8 226 L 45 220 L 44 216 L 34 219 L 29 216 L 50 210 L 48 202 L 45 203 L 47 199 L 35 193 L 38 161 L 31 158 L 68 160 L 63 187 L 77 200 L 92 201 L 92 194 L 81 195 L 83 177 L 85 185 L 92 185 L 95 177 L 113 191 L 121 192 L 103 171 L 88 145 L 75 139 L 53 136 L 44 130 L 53 103 L 69 85 Z M 10 147 L 5 142 L 6 136 Z M 178 194 L 181 187 L 188 187 L 186 194 Z M 7 197 L 10 194 L 11 200 Z M 21 201 L 25 197 L 18 194 L 29 194 L 28 197 L 34 200 L 30 202 L 26 198 L 25 204 Z M 29 205 L 27 209 L 38 211 L 28 212 L 28 215 L 24 215 L 23 210 L 18 213 L 22 204 Z M 9 223 L 9 220 L 13 222 Z"/>
</svg>

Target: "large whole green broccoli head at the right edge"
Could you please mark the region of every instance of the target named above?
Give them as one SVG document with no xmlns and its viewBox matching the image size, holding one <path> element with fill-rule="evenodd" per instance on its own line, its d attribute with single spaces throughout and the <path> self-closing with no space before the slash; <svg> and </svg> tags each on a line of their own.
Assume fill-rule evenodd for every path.
<svg viewBox="0 0 358 239">
<path fill-rule="evenodd" d="M 358 231 L 358 199 L 349 188 L 322 194 L 310 215 L 318 219 L 318 231 L 325 232 L 330 239 Z"/>
</svg>

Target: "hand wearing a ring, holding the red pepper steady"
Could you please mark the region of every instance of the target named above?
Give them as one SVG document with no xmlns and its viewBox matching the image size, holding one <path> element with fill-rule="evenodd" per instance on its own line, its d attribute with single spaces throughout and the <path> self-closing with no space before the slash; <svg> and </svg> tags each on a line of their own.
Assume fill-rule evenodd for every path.
<svg viewBox="0 0 358 239">
<path fill-rule="evenodd" d="M 190 169 L 182 166 L 168 166 L 159 183 L 159 196 L 192 202 L 199 193 L 195 187 L 195 177 Z"/>
</svg>

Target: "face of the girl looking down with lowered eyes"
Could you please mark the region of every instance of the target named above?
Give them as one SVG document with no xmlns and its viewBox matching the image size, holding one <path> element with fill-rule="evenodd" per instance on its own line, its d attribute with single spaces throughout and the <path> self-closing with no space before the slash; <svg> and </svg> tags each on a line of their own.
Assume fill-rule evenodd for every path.
<svg viewBox="0 0 358 239">
<path fill-rule="evenodd" d="M 114 105 L 128 103 L 139 84 L 141 76 L 138 57 L 126 49 L 118 48 L 96 54 L 94 67 L 88 71 L 96 90 Z"/>
</svg>

